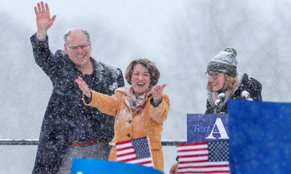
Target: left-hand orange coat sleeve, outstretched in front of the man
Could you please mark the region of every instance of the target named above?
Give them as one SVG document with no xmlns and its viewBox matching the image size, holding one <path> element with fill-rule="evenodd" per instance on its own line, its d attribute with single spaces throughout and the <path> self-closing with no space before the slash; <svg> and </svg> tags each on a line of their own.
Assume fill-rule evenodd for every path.
<svg viewBox="0 0 291 174">
<path fill-rule="evenodd" d="M 85 95 L 83 94 L 83 101 L 85 105 L 98 108 L 104 114 L 116 115 L 118 109 L 118 93 L 112 96 L 101 94 L 99 92 L 89 89 L 92 94 L 92 100 L 90 103 L 86 103 Z"/>
</svg>

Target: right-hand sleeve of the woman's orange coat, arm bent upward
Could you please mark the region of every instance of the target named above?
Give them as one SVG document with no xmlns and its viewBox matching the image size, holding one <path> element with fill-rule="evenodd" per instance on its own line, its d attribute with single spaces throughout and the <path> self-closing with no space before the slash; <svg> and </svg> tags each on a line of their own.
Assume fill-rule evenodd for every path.
<svg viewBox="0 0 291 174">
<path fill-rule="evenodd" d="M 162 94 L 162 101 L 158 107 L 154 107 L 152 104 L 149 107 L 149 117 L 157 123 L 162 123 L 167 119 L 167 115 L 170 109 L 170 99 L 168 95 Z"/>
</svg>

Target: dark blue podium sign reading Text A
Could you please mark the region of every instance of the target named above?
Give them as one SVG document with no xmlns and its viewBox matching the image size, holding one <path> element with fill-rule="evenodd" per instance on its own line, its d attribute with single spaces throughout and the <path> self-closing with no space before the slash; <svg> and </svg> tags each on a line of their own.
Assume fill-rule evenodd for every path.
<svg viewBox="0 0 291 174">
<path fill-rule="evenodd" d="M 227 114 L 187 114 L 187 143 L 228 139 Z"/>
</svg>

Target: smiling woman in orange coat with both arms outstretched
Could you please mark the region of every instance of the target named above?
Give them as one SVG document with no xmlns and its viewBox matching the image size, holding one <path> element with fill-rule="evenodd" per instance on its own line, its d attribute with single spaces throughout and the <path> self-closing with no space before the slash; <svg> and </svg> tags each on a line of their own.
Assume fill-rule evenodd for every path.
<svg viewBox="0 0 291 174">
<path fill-rule="evenodd" d="M 155 63 L 140 58 L 133 60 L 125 72 L 125 79 L 131 87 L 118 88 L 112 96 L 92 91 L 81 77 L 76 79 L 86 105 L 115 116 L 115 135 L 109 143 L 112 146 L 109 160 L 116 161 L 117 142 L 148 135 L 154 167 L 160 171 L 164 170 L 161 132 L 170 101 L 169 97 L 162 93 L 166 84 L 156 85 L 159 77 L 160 73 Z"/>
</svg>

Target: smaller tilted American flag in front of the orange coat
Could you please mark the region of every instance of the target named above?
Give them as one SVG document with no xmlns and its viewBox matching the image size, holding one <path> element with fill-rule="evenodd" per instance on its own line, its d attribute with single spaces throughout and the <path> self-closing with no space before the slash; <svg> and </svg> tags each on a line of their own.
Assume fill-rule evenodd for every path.
<svg viewBox="0 0 291 174">
<path fill-rule="evenodd" d="M 148 137 L 118 142 L 115 147 L 117 161 L 154 167 Z"/>
</svg>

